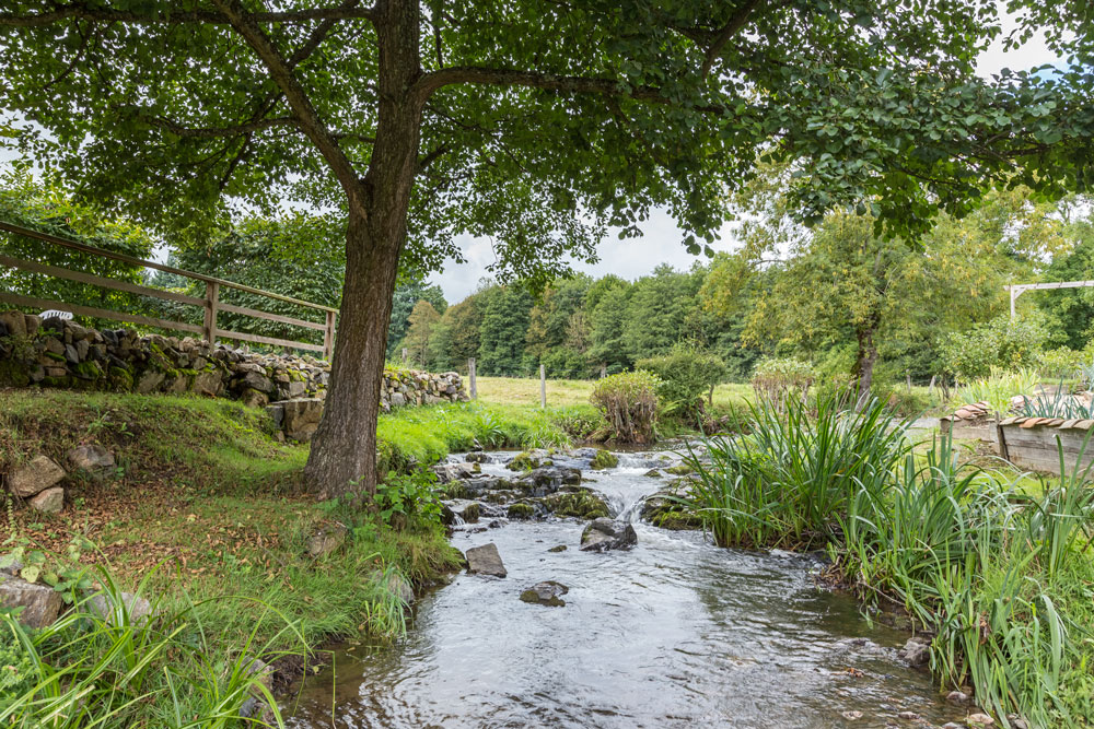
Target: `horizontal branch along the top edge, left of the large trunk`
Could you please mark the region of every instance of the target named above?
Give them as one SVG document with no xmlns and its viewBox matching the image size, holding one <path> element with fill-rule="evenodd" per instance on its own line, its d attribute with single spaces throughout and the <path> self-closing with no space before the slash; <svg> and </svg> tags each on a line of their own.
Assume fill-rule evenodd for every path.
<svg viewBox="0 0 1094 729">
<path fill-rule="evenodd" d="M 357 5 L 358 3 L 352 3 Z M 254 23 L 309 23 L 312 21 L 368 20 L 376 16 L 374 8 L 312 8 L 305 10 L 287 10 L 281 12 L 253 13 L 248 15 Z M 208 10 L 187 10 L 179 12 L 141 13 L 129 10 L 107 10 L 92 8 L 85 2 L 74 2 L 61 5 L 56 10 L 43 13 L 21 15 L 16 13 L 0 13 L 0 26 L 35 27 L 50 25 L 67 20 L 100 21 L 104 23 L 131 23 L 136 25 L 177 25 L 182 23 L 211 23 L 229 25 L 231 21 L 222 13 Z"/>
</svg>

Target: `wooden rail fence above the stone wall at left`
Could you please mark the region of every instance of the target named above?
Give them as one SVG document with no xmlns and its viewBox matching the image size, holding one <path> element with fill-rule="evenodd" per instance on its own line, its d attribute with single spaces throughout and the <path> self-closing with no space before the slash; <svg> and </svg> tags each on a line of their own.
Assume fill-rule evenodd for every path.
<svg viewBox="0 0 1094 729">
<path fill-rule="evenodd" d="M 25 228 L 19 225 L 12 225 L 11 223 L 5 223 L 3 221 L 0 221 L 0 231 L 7 233 L 13 233 L 15 235 L 22 235 L 28 238 L 34 238 L 56 246 L 62 246 L 65 248 L 71 248 L 72 250 L 79 250 L 81 252 L 91 254 L 93 256 L 112 258 L 114 260 L 123 261 L 131 266 L 140 266 L 144 268 L 154 269 L 156 271 L 163 271 L 165 273 L 174 273 L 175 275 L 193 279 L 195 281 L 201 281 L 205 283 L 206 287 L 206 295 L 203 297 L 188 296 L 186 294 L 179 294 L 173 291 L 163 291 L 161 289 L 151 289 L 149 286 L 142 286 L 140 284 L 130 283 L 128 281 L 117 281 L 115 279 L 106 279 L 100 275 L 94 275 L 92 273 L 84 273 L 83 271 L 70 271 L 68 269 L 60 268 L 57 266 L 36 263 L 34 261 L 24 261 L 19 258 L 13 258 L 11 256 L 0 254 L 0 266 L 8 266 L 11 268 L 30 271 L 32 273 L 40 273 L 43 275 L 56 277 L 58 279 L 66 279 L 68 281 L 75 281 L 78 283 L 91 284 L 94 286 L 101 286 L 103 289 L 112 289 L 114 291 L 125 291 L 141 296 L 151 296 L 153 298 L 160 298 L 163 301 L 177 302 L 179 304 L 187 304 L 189 306 L 197 306 L 202 309 L 203 317 L 202 317 L 202 324 L 198 326 L 194 324 L 187 324 L 185 321 L 159 319 L 155 317 L 141 316 L 125 311 L 114 311 L 110 309 L 102 309 L 91 306 L 83 306 L 80 304 L 71 304 L 69 302 L 57 302 L 46 298 L 36 298 L 33 296 L 23 296 L 20 294 L 9 293 L 4 291 L 0 291 L 0 303 L 10 304 L 12 306 L 23 306 L 37 309 L 58 309 L 62 311 L 71 311 L 72 314 L 79 316 L 96 317 L 100 319 L 112 319 L 114 321 L 124 321 L 126 324 L 136 324 L 146 327 L 155 327 L 159 329 L 193 332 L 201 334 L 201 337 L 203 337 L 210 344 L 216 343 L 217 338 L 219 337 L 221 339 L 232 339 L 243 342 L 255 342 L 258 344 L 270 344 L 274 346 L 288 346 L 298 350 L 321 352 L 325 360 L 329 360 L 334 352 L 335 322 L 336 322 L 336 317 L 338 315 L 338 309 L 331 308 L 329 306 L 323 306 L 321 304 L 312 304 L 311 302 L 301 301 L 299 298 L 293 298 L 291 296 L 282 296 L 281 294 L 275 294 L 269 291 L 263 291 L 260 289 L 245 286 L 242 283 L 233 283 L 232 281 L 224 281 L 223 279 L 217 279 L 201 273 L 183 271 L 182 269 L 176 269 L 171 266 L 164 266 L 162 263 L 156 263 L 154 261 L 146 261 L 139 258 L 133 258 L 131 256 L 126 256 L 124 254 L 116 254 L 110 250 L 103 250 L 102 248 L 96 248 L 94 246 L 77 243 L 75 240 L 68 240 L 66 238 L 61 238 L 56 235 L 40 233 L 38 231 Z M 304 319 L 282 316 L 280 314 L 270 314 L 269 311 L 261 311 L 258 309 L 252 309 L 244 306 L 234 306 L 232 304 L 228 304 L 220 299 L 221 289 L 234 289 L 236 291 L 242 291 L 248 294 L 265 296 L 266 298 L 272 298 L 279 302 L 295 304 L 296 306 L 316 309 L 325 314 L 326 320 L 324 324 L 318 324 L 316 321 L 306 321 Z M 258 334 L 249 334 L 241 331 L 229 331 L 225 329 L 219 329 L 217 327 L 217 314 L 219 311 L 240 314 L 243 316 L 255 317 L 256 319 L 266 319 L 268 321 L 278 321 L 280 324 L 288 324 L 294 327 L 303 327 L 305 329 L 317 329 L 323 332 L 323 344 L 322 345 L 312 344 L 310 342 L 295 341 L 290 339 L 278 339 L 276 337 L 260 337 Z"/>
</svg>

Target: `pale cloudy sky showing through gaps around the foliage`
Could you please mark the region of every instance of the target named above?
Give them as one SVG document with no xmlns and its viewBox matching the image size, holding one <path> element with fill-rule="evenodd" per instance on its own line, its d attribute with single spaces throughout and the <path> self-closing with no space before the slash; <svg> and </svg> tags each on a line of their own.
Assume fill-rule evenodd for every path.
<svg viewBox="0 0 1094 729">
<path fill-rule="evenodd" d="M 1003 3 L 1000 2 L 1002 5 Z M 1003 35 L 1014 27 L 1013 22 L 1003 23 Z M 1022 48 L 1006 52 L 1003 50 L 1002 38 L 997 38 L 990 48 L 980 57 L 978 72 L 984 77 L 998 73 L 1003 68 L 1013 70 L 1029 69 L 1044 63 L 1055 63 L 1059 59 L 1045 45 L 1043 37 L 1033 37 Z M 668 263 L 678 270 L 687 270 L 696 261 L 706 261 L 705 256 L 689 255 L 682 244 L 684 232 L 676 226 L 675 221 L 664 210 L 655 210 L 642 225 L 642 237 L 620 240 L 618 231 L 609 231 L 605 240 L 598 246 L 600 260 L 595 263 L 573 263 L 575 271 L 583 271 L 594 278 L 614 273 L 624 279 L 633 280 L 653 271 L 661 263 Z M 429 278 L 444 291 L 444 297 L 455 303 L 477 286 L 481 278 L 489 275 L 487 267 L 497 260 L 493 247 L 487 238 L 462 236 L 456 238 L 465 263 L 455 263 L 451 259 L 445 262 L 444 270 Z M 728 251 L 736 246 L 733 228 L 726 225 L 722 228 L 721 239 L 711 247 L 714 250 Z"/>
</svg>

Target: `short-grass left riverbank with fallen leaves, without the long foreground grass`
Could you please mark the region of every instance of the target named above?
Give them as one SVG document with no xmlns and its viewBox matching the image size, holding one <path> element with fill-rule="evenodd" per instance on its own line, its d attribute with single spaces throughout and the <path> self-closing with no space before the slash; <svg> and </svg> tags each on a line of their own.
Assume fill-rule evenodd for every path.
<svg viewBox="0 0 1094 729">
<path fill-rule="evenodd" d="M 476 439 L 561 445 L 568 428 L 589 420 L 585 409 L 400 410 L 381 416 L 382 467 L 415 470 Z M 412 599 L 405 586 L 435 584 L 462 560 L 435 519 L 392 514 L 385 524 L 301 493 L 307 447 L 280 440 L 260 409 L 194 397 L 0 390 L 0 471 L 38 456 L 67 463 L 80 446 L 102 448 L 114 467 L 95 478 L 70 474 L 57 514 L 9 501 L 0 554 L 18 552 L 37 567 L 38 584 L 104 568 L 89 574 L 100 585 L 108 574 L 119 591 L 185 616 L 186 635 L 200 634 L 210 659 L 231 663 L 244 646 L 261 646 L 278 658 L 275 683 L 322 662 L 314 649 L 334 637 L 400 635 Z M 14 650 L 12 639 L 5 634 L 0 655 Z M 0 694 L 10 696 L 13 685 L 0 683 Z M 168 690 L 162 675 L 155 690 Z M 159 726 L 152 709 L 135 710 L 126 721 Z"/>
</svg>

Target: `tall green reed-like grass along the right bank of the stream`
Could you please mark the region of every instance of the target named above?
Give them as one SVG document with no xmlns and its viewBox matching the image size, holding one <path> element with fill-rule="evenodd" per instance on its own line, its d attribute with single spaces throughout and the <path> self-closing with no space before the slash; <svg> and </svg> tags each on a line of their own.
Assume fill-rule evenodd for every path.
<svg viewBox="0 0 1094 729">
<path fill-rule="evenodd" d="M 935 674 L 971 684 L 1003 726 L 1094 724 L 1090 473 L 1029 495 L 1016 473 L 962 465 L 948 438 L 913 452 L 878 403 L 815 407 L 754 408 L 750 435 L 689 458 L 689 503 L 718 543 L 824 545 L 847 586 L 934 636 Z"/>
</svg>

